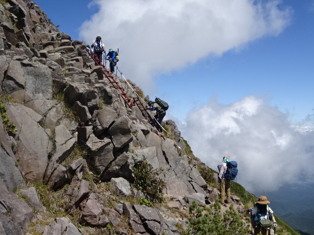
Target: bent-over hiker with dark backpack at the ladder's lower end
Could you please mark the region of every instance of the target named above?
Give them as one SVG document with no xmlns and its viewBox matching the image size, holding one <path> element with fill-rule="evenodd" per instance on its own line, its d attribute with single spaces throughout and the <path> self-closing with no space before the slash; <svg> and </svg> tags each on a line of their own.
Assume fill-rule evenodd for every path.
<svg viewBox="0 0 314 235">
<path fill-rule="evenodd" d="M 156 120 L 154 120 L 154 122 L 151 124 L 153 126 L 156 126 L 159 132 L 162 132 L 161 122 L 162 119 L 166 116 L 166 110 L 169 107 L 168 103 L 156 97 L 155 102 L 150 100 L 148 101 L 148 105 L 149 107 L 146 107 L 146 110 L 156 111 L 156 115 L 154 116 L 154 118 L 158 122 L 156 123 Z"/>
</svg>

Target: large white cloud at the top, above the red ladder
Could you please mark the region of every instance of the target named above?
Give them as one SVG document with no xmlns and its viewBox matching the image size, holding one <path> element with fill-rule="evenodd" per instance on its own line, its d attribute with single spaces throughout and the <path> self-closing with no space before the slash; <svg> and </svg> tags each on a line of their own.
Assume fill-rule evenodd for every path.
<svg viewBox="0 0 314 235">
<path fill-rule="evenodd" d="M 291 11 L 281 0 L 94 0 L 99 12 L 80 36 L 91 43 L 101 34 L 105 45 L 120 48 L 125 76 L 147 90 L 152 78 L 210 54 L 277 35 Z"/>
</svg>

